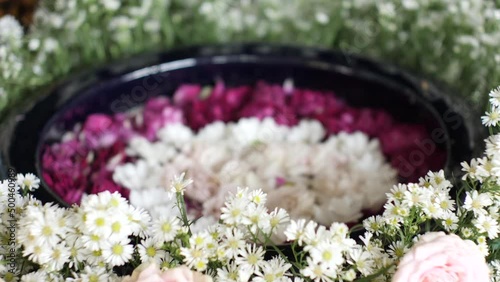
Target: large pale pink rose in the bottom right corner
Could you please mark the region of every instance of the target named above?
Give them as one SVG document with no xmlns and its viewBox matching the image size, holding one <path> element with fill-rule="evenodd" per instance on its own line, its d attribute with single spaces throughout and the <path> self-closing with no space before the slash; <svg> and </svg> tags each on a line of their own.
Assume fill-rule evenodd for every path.
<svg viewBox="0 0 500 282">
<path fill-rule="evenodd" d="M 489 269 L 479 248 L 454 234 L 423 235 L 398 265 L 393 282 L 488 282 Z"/>
</svg>

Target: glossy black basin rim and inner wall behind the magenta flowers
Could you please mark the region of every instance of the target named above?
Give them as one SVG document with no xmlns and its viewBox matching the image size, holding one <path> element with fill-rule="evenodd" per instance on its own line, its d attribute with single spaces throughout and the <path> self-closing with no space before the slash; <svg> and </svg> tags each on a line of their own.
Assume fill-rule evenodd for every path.
<svg viewBox="0 0 500 282">
<path fill-rule="evenodd" d="M 459 173 L 459 163 L 471 158 L 478 138 L 474 115 L 451 102 L 442 88 L 394 66 L 314 48 L 191 47 L 116 62 L 77 75 L 38 101 L 28 101 L 2 123 L 2 177 L 8 167 L 40 175 L 42 145 L 58 140 L 91 113 L 125 111 L 149 97 L 171 95 L 182 83 L 213 84 L 218 78 L 229 86 L 257 80 L 281 84 L 293 78 L 297 87 L 333 90 L 352 106 L 383 108 L 398 121 L 424 124 L 434 143 L 447 153 L 448 175 Z M 470 126 L 476 121 L 478 126 Z M 37 197 L 65 204 L 42 184 Z"/>
</svg>

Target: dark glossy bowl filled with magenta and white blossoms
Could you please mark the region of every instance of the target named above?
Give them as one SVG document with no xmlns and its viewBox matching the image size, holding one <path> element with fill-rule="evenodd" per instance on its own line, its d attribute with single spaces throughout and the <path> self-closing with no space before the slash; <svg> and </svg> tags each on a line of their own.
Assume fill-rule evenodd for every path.
<svg viewBox="0 0 500 282">
<path fill-rule="evenodd" d="M 371 61 L 265 45 L 163 56 L 121 73 L 109 67 L 96 72 L 100 83 L 79 78 L 47 98 L 74 95 L 39 121 L 35 140 L 42 183 L 60 202 L 118 191 L 161 214 L 173 200 L 164 188 L 186 172 L 200 224 L 217 220 L 236 186 L 262 188 L 269 208 L 294 218 L 357 222 L 380 210 L 398 180 L 453 169 L 469 150 L 464 123 L 450 126 L 460 116 L 424 96 L 437 95 L 428 82 Z M 54 109 L 49 103 L 32 111 Z"/>
</svg>

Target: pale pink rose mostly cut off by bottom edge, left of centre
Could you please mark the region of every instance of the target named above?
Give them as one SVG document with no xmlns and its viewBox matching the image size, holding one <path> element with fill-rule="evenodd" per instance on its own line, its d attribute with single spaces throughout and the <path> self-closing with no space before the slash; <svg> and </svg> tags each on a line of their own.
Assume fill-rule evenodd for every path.
<svg viewBox="0 0 500 282">
<path fill-rule="evenodd" d="M 212 278 L 186 266 L 161 271 L 155 264 L 141 264 L 122 282 L 211 282 Z"/>
</svg>

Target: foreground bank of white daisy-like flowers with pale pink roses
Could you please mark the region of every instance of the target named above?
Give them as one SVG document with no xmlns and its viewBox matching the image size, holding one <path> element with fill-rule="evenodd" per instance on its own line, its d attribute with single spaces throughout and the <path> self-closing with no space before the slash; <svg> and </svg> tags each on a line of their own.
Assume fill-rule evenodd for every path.
<svg viewBox="0 0 500 282">
<path fill-rule="evenodd" d="M 183 174 L 168 187 L 178 216 L 155 218 L 118 192 L 85 195 L 71 208 L 44 205 L 29 195 L 40 180 L 10 169 L 0 185 L 9 218 L 0 236 L 12 251 L 2 253 L 0 271 L 6 281 L 499 281 L 499 96 L 500 87 L 491 91 L 483 117 L 491 130 L 484 156 L 462 163 L 456 192 L 443 171 L 394 185 L 359 241 L 344 223 L 267 209 L 260 189 L 236 189 L 219 222 L 193 231 L 183 197 L 193 180 Z M 14 233 L 9 221 L 18 222 Z M 280 235 L 292 255 L 273 243 Z"/>
</svg>

